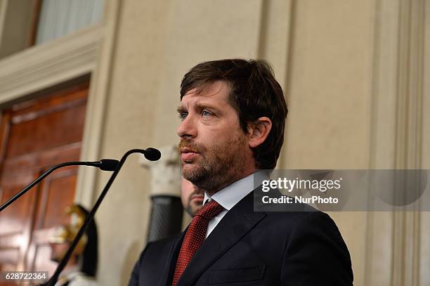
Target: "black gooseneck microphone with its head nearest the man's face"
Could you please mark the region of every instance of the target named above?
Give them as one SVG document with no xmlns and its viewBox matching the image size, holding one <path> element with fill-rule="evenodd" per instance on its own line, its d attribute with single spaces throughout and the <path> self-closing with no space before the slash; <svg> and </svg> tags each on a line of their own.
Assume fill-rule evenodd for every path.
<svg viewBox="0 0 430 286">
<path fill-rule="evenodd" d="M 103 199 L 104 199 L 105 195 L 107 194 L 107 191 L 109 190 L 109 188 L 112 185 L 113 181 L 117 177 L 117 174 L 119 173 L 119 169 L 121 169 L 122 165 L 126 161 L 126 158 L 129 157 L 129 155 L 131 155 L 133 153 L 142 153 L 143 155 L 145 155 L 145 157 L 148 160 L 151 160 L 151 161 L 158 160 L 159 156 L 157 158 L 154 158 L 154 157 L 151 157 L 150 155 L 148 157 L 145 154 L 145 152 L 147 152 L 147 151 L 152 152 L 152 150 L 154 150 L 154 149 L 152 149 L 152 150 L 151 149 L 152 148 L 148 148 L 147 150 L 143 150 L 143 149 L 131 149 L 131 150 L 127 151 L 124 154 L 124 156 L 122 156 L 121 160 L 119 161 L 119 164 L 117 165 L 117 169 L 115 169 L 115 171 L 112 173 L 112 176 L 110 176 L 109 181 L 107 181 L 105 188 L 103 188 L 102 193 L 100 194 L 100 196 L 97 199 L 97 202 L 94 204 L 94 206 L 91 209 L 91 212 L 89 212 L 88 216 L 86 216 L 84 224 L 81 226 L 81 228 L 79 228 L 79 231 L 78 231 L 76 237 L 74 238 L 72 244 L 70 245 L 69 249 L 67 249 L 67 252 L 66 252 L 65 256 L 60 261 L 60 264 L 58 264 L 56 272 L 52 275 L 52 277 L 44 285 L 54 286 L 56 284 L 56 282 L 58 280 L 58 277 L 60 276 L 61 271 L 63 271 L 63 269 L 67 265 L 67 262 L 69 261 L 70 256 L 72 256 L 72 252 L 73 252 L 74 248 L 76 247 L 76 245 L 79 242 L 79 240 L 82 238 L 82 235 L 84 235 L 84 232 L 85 232 L 86 228 L 88 228 L 89 223 L 91 223 L 91 221 L 93 221 L 94 214 L 96 214 L 98 207 L 100 206 L 101 202 L 103 201 Z M 157 150 L 157 152 L 159 153 L 158 150 Z"/>
</svg>

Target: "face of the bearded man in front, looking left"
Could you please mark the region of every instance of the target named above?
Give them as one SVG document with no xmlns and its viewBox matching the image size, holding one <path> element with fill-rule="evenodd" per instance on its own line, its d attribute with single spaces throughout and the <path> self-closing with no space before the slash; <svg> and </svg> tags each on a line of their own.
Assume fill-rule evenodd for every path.
<svg viewBox="0 0 430 286">
<path fill-rule="evenodd" d="M 178 108 L 183 177 L 209 194 L 255 169 L 247 134 L 228 103 L 230 87 L 214 82 L 185 93 Z"/>
</svg>

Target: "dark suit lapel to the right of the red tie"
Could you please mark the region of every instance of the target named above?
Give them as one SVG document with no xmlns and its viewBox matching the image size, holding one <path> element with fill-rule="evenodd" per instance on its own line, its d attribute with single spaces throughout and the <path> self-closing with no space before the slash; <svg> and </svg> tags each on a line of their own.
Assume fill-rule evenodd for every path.
<svg viewBox="0 0 430 286">
<path fill-rule="evenodd" d="M 211 264 L 254 228 L 264 216 L 266 216 L 264 212 L 253 212 L 253 192 L 249 193 L 230 209 L 204 240 L 179 279 L 178 286 L 192 285 Z"/>
</svg>

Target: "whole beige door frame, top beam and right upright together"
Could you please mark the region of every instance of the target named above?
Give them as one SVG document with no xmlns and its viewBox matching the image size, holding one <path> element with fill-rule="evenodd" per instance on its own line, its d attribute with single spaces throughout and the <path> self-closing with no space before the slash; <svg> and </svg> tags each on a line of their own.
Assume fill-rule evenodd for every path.
<svg viewBox="0 0 430 286">
<path fill-rule="evenodd" d="M 109 98 L 112 55 L 121 3 L 105 2 L 103 22 L 0 60 L 0 109 L 52 86 L 91 74 L 82 160 L 98 160 Z M 95 168 L 79 168 L 75 202 L 91 207 Z"/>
</svg>

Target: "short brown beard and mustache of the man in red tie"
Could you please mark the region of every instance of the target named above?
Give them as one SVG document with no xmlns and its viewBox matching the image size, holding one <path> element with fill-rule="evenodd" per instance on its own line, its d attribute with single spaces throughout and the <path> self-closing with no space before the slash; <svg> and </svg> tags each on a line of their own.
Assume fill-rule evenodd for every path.
<svg viewBox="0 0 430 286">
<path fill-rule="evenodd" d="M 245 136 L 209 147 L 181 139 L 178 148 L 190 148 L 200 156 L 192 164 L 182 162 L 182 176 L 195 186 L 214 194 L 241 178 L 245 169 Z"/>
</svg>

